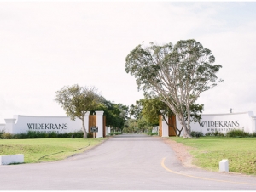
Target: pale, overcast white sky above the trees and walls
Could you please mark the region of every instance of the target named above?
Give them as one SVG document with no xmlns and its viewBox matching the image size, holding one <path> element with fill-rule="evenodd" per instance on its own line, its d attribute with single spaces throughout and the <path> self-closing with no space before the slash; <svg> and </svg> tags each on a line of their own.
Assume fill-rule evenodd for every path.
<svg viewBox="0 0 256 192">
<path fill-rule="evenodd" d="M 0 1 L 0 123 L 66 116 L 64 86 L 94 86 L 117 104 L 143 99 L 125 57 L 138 44 L 195 39 L 223 67 L 201 93 L 204 114 L 256 111 L 256 2 Z"/>
</svg>

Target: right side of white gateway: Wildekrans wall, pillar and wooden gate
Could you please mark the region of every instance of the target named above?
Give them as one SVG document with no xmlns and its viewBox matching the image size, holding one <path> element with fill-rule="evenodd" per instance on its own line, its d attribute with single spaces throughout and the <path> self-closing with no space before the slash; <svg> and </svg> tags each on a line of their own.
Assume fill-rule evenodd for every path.
<svg viewBox="0 0 256 192">
<path fill-rule="evenodd" d="M 181 129 L 182 126 L 176 116 L 165 117 L 169 126 L 164 121 L 163 116 L 160 116 L 159 135 L 160 137 L 176 136 L 175 129 Z M 256 116 L 253 116 L 252 111 L 241 113 L 228 114 L 202 114 L 200 122 L 190 123 L 191 131 L 201 132 L 203 134 L 220 132 L 227 133 L 231 130 L 239 129 L 247 133 L 256 132 Z M 181 133 L 181 136 L 183 132 Z"/>
</svg>

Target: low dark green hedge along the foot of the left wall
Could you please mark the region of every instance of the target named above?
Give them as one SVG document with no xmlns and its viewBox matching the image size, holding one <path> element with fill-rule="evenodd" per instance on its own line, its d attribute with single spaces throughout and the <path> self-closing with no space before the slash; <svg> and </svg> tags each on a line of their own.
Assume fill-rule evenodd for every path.
<svg viewBox="0 0 256 192">
<path fill-rule="evenodd" d="M 3 133 L 0 135 L 3 139 L 25 139 L 25 138 L 83 138 L 84 133 L 82 131 L 73 133 L 56 133 L 56 132 L 39 132 L 28 131 L 27 133 Z"/>
</svg>

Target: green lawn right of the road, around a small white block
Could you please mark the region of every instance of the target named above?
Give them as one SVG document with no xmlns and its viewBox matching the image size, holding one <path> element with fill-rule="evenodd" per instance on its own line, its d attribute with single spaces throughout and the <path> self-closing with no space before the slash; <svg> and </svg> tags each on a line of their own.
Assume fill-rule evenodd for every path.
<svg viewBox="0 0 256 192">
<path fill-rule="evenodd" d="M 218 171 L 219 161 L 229 160 L 230 172 L 256 175 L 256 138 L 170 138 L 193 147 L 193 163 L 211 171 Z"/>
</svg>

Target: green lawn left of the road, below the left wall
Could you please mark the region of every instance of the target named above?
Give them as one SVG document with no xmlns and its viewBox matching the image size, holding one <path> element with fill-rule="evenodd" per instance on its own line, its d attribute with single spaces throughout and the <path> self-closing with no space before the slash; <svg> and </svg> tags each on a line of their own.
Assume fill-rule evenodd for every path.
<svg viewBox="0 0 256 192">
<path fill-rule="evenodd" d="M 57 161 L 81 153 L 107 138 L 0 139 L 0 155 L 24 154 L 25 163 Z"/>
</svg>

